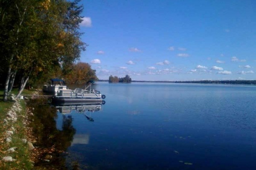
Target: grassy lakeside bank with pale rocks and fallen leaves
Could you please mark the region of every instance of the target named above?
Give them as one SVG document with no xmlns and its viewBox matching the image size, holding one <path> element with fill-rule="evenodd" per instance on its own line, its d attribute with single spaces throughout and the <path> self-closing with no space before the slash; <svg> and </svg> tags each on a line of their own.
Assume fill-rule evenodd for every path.
<svg viewBox="0 0 256 170">
<path fill-rule="evenodd" d="M 38 95 L 38 91 L 34 91 L 33 96 Z M 35 135 L 34 130 L 36 124 L 33 123 L 37 119 L 34 115 L 34 108 L 28 107 L 24 99 L 17 99 L 7 102 L 8 107 L 3 109 L 0 120 L 0 168 L 5 170 L 13 169 L 47 169 L 55 170 L 54 165 L 47 166 L 53 159 L 56 152 L 54 145 L 52 147 L 44 147 L 40 145 L 42 139 Z M 6 106 L 7 103 L 3 102 Z"/>
</svg>

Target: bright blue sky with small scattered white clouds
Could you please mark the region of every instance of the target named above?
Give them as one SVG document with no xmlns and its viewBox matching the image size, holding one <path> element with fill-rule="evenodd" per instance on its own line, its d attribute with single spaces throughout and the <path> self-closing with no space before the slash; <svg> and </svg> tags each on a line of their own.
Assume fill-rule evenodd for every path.
<svg viewBox="0 0 256 170">
<path fill-rule="evenodd" d="M 99 79 L 256 79 L 255 0 L 83 0 Z"/>
</svg>

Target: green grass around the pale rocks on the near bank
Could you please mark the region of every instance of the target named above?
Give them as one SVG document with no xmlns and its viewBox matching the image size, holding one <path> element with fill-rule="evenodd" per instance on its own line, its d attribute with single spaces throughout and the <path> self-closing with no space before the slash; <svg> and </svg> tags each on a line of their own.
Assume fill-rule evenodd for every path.
<svg viewBox="0 0 256 170">
<path fill-rule="evenodd" d="M 17 91 L 13 91 L 17 94 Z M 32 94 L 31 91 L 24 91 L 24 93 Z M 0 96 L 3 96 L 3 90 L 0 90 Z M 23 144 L 21 139 L 26 139 L 27 129 L 23 125 L 25 116 L 26 116 L 26 105 L 23 100 L 20 101 L 22 106 L 22 111 L 17 113 L 18 119 L 17 122 L 9 121 L 8 125 L 3 123 L 3 119 L 6 118 L 7 111 L 12 107 L 14 102 L 3 102 L 0 100 L 0 169 L 3 170 L 31 170 L 33 165 L 29 161 L 30 153 L 25 144 Z M 12 135 L 12 142 L 5 142 L 6 130 L 11 130 L 11 127 L 15 128 L 15 132 Z M 14 153 L 7 153 L 11 147 L 17 147 Z M 4 162 L 2 158 L 4 156 L 12 156 L 16 161 L 13 162 Z"/>
</svg>

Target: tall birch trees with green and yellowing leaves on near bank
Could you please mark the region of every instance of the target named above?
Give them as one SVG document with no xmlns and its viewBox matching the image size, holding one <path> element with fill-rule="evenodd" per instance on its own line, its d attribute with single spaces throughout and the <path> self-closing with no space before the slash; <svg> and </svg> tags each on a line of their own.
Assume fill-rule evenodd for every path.
<svg viewBox="0 0 256 170">
<path fill-rule="evenodd" d="M 3 100 L 18 86 L 64 78 L 83 83 L 97 79 L 96 70 L 79 62 L 87 44 L 79 31 L 80 0 L 0 1 L 0 85 Z"/>
</svg>

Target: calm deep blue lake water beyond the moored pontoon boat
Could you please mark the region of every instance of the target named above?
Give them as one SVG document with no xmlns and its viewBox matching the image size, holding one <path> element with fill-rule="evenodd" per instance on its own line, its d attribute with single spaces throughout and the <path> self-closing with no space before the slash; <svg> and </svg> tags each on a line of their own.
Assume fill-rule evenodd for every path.
<svg viewBox="0 0 256 170">
<path fill-rule="evenodd" d="M 94 88 L 106 95 L 99 111 L 64 116 L 76 129 L 67 167 L 77 161 L 89 170 L 256 169 L 256 86 L 97 82 Z"/>
</svg>

